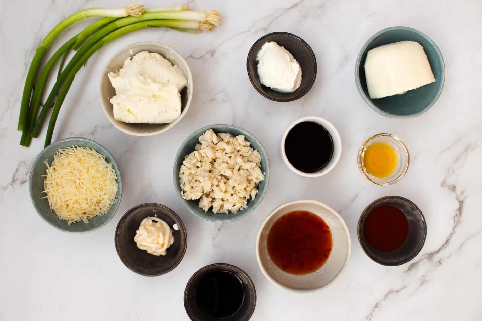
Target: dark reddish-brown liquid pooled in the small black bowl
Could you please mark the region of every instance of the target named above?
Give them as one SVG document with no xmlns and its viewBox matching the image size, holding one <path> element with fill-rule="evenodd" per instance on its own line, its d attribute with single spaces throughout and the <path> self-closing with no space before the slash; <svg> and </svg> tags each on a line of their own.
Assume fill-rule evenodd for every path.
<svg viewBox="0 0 482 321">
<path fill-rule="evenodd" d="M 405 243 L 408 237 L 408 221 L 395 206 L 375 207 L 363 223 L 365 239 L 375 250 L 391 252 Z"/>
</svg>

